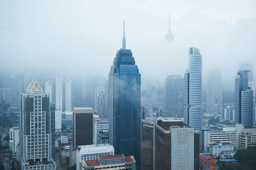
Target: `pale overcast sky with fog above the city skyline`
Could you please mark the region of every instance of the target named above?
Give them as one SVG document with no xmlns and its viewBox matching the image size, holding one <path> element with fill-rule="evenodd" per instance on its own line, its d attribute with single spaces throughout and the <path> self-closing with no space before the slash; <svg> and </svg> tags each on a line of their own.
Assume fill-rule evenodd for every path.
<svg viewBox="0 0 256 170">
<path fill-rule="evenodd" d="M 188 48 L 203 56 L 204 79 L 221 69 L 234 80 L 239 61 L 256 67 L 256 1 L 0 1 L 0 63 L 8 73 L 108 73 L 122 46 L 141 78 L 184 74 Z M 171 15 L 172 43 L 165 39 Z"/>
</svg>

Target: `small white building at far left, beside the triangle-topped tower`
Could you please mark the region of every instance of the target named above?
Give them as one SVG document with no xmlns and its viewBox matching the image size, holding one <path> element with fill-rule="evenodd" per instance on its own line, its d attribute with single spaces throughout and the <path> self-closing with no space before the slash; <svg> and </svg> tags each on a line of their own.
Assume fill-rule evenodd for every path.
<svg viewBox="0 0 256 170">
<path fill-rule="evenodd" d="M 12 150 L 12 157 L 16 158 L 17 145 L 19 144 L 19 127 L 10 128 L 10 150 Z"/>
</svg>

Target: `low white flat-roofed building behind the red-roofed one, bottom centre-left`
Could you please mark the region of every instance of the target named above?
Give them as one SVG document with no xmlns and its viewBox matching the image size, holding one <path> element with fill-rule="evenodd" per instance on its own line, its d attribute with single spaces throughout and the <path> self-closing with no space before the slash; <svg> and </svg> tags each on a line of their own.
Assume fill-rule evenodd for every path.
<svg viewBox="0 0 256 170">
<path fill-rule="evenodd" d="M 115 150 L 112 145 L 82 145 L 76 149 L 76 169 L 81 169 L 82 160 L 93 160 L 98 156 L 114 155 Z"/>
</svg>

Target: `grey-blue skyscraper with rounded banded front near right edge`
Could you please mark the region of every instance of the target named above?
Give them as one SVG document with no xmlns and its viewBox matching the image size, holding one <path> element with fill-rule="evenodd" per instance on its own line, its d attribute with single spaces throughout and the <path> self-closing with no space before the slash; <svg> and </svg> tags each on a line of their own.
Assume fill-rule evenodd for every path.
<svg viewBox="0 0 256 170">
<path fill-rule="evenodd" d="M 244 127 L 253 124 L 253 90 L 248 86 L 248 72 L 239 71 L 235 80 L 235 122 Z"/>
</svg>

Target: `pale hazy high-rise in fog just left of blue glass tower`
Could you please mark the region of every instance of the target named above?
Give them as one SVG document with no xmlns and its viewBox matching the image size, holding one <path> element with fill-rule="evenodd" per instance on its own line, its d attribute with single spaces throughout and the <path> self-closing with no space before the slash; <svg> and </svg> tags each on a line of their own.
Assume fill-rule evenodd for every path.
<svg viewBox="0 0 256 170">
<path fill-rule="evenodd" d="M 95 87 L 95 106 L 99 117 L 105 117 L 105 90 L 104 87 Z"/>
</svg>

